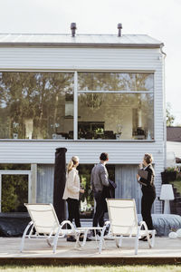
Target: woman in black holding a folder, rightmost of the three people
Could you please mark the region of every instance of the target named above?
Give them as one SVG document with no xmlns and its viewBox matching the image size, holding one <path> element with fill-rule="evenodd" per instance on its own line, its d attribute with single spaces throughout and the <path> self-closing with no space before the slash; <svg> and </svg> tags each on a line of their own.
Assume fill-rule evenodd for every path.
<svg viewBox="0 0 181 272">
<path fill-rule="evenodd" d="M 153 228 L 153 222 L 151 218 L 151 208 L 154 200 L 156 199 L 156 188 L 154 185 L 155 171 L 152 166 L 153 157 L 151 154 L 145 154 L 143 158 L 144 168 L 139 165 L 140 168 L 148 171 L 147 179 L 141 178 L 137 175 L 138 182 L 141 184 L 142 199 L 141 199 L 141 215 L 143 220 L 146 222 L 148 229 Z M 151 235 L 150 235 L 151 236 Z M 142 240 L 147 240 L 147 238 L 141 238 Z"/>
</svg>

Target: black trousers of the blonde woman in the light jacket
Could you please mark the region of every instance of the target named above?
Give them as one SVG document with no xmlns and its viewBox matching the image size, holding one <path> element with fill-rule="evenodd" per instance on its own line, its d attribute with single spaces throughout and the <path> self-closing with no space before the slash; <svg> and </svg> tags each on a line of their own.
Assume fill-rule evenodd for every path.
<svg viewBox="0 0 181 272">
<path fill-rule="evenodd" d="M 72 220 L 75 220 L 75 226 L 77 228 L 81 227 L 81 222 L 80 222 L 80 212 L 79 212 L 79 200 L 78 199 L 67 199 L 67 203 L 68 203 L 68 211 L 69 211 L 69 218 L 68 220 L 70 220 L 72 222 Z M 71 228 L 68 225 L 68 228 Z"/>
</svg>

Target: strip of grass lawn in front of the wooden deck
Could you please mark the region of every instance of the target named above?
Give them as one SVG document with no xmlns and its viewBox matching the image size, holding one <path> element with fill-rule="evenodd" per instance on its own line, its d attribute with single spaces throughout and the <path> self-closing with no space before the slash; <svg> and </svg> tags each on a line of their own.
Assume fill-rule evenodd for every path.
<svg viewBox="0 0 181 272">
<path fill-rule="evenodd" d="M 180 272 L 181 266 L 70 266 L 70 267 L 16 267 L 3 266 L 0 271 L 5 272 Z"/>
</svg>

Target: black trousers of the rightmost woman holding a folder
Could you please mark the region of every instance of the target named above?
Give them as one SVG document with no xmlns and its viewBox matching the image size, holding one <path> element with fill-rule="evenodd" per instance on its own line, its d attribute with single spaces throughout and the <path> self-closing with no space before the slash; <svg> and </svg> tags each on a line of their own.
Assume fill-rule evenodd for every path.
<svg viewBox="0 0 181 272">
<path fill-rule="evenodd" d="M 146 222 L 148 229 L 154 229 L 153 228 L 153 222 L 151 218 L 151 207 L 156 199 L 155 194 L 143 194 L 142 199 L 141 199 L 141 215 L 143 218 L 143 221 Z"/>
</svg>

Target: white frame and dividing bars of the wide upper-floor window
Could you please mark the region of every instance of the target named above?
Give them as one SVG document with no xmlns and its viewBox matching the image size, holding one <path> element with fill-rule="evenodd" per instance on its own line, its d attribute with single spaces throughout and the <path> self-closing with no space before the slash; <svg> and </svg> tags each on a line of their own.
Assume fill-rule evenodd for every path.
<svg viewBox="0 0 181 272">
<path fill-rule="evenodd" d="M 73 139 L 67 139 L 67 140 L 61 140 L 61 139 L 0 139 L 0 141 L 68 141 L 68 142 L 80 142 L 80 141 L 111 141 L 111 142 L 153 142 L 155 141 L 155 70 L 0 70 L 0 73 L 73 73 L 73 78 L 74 78 L 74 88 L 73 88 Z M 153 91 L 82 91 L 78 90 L 78 73 L 153 73 Z M 153 93 L 153 128 L 154 128 L 154 139 L 152 140 L 95 140 L 95 139 L 86 139 L 86 140 L 81 140 L 78 139 L 78 95 L 79 93 Z"/>
</svg>

